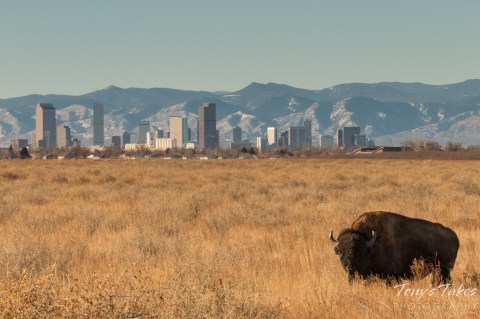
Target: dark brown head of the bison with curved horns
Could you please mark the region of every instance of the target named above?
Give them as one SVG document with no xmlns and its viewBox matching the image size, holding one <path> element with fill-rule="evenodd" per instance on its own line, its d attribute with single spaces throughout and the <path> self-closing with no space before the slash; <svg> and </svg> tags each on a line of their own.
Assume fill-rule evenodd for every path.
<svg viewBox="0 0 480 319">
<path fill-rule="evenodd" d="M 335 254 L 340 257 L 349 281 L 353 280 L 355 274 L 368 275 L 372 246 L 376 240 L 373 230 L 371 235 L 367 236 L 359 230 L 346 229 L 340 233 L 338 239 L 333 238 L 331 231 L 330 240 L 335 244 Z"/>
</svg>

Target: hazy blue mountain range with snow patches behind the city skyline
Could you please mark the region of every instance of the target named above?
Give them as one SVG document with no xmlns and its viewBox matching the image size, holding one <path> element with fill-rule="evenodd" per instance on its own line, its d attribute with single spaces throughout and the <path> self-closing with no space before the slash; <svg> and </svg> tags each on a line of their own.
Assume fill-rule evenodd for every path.
<svg viewBox="0 0 480 319">
<path fill-rule="evenodd" d="M 168 131 L 171 115 L 188 118 L 195 138 L 198 107 L 217 104 L 220 143 L 232 138 L 235 125 L 252 142 L 269 126 L 278 131 L 312 120 L 313 142 L 318 134 L 335 135 L 343 126 L 359 126 L 377 145 L 400 145 L 407 140 L 480 144 L 480 80 L 448 85 L 381 82 L 340 84 L 307 90 L 284 84 L 251 83 L 235 92 L 188 91 L 166 88 L 109 86 L 91 93 L 27 95 L 0 99 L 0 146 L 28 138 L 35 129 L 35 105 L 52 103 L 57 125 L 69 125 L 72 135 L 90 145 L 95 102 L 105 104 L 105 141 L 124 131 L 136 141 L 140 120 Z"/>
</svg>

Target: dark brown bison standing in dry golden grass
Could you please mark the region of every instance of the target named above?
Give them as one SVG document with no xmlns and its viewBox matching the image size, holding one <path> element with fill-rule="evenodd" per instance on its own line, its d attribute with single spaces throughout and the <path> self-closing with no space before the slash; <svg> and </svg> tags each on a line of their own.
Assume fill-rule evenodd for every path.
<svg viewBox="0 0 480 319">
<path fill-rule="evenodd" d="M 350 282 L 355 276 L 376 276 L 390 284 L 411 279 L 414 260 L 423 260 L 429 266 L 425 276 L 433 271 L 434 283 L 448 283 L 459 247 L 450 228 L 389 212 L 364 213 L 337 239 L 333 231 L 329 237 Z"/>
</svg>

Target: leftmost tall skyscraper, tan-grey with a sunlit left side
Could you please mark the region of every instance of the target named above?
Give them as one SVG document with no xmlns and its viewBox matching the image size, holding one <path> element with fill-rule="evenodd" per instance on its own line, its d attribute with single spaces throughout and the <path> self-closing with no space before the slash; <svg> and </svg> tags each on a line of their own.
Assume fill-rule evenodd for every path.
<svg viewBox="0 0 480 319">
<path fill-rule="evenodd" d="M 35 145 L 37 147 L 56 147 L 57 122 L 52 104 L 39 103 L 35 107 Z"/>
</svg>

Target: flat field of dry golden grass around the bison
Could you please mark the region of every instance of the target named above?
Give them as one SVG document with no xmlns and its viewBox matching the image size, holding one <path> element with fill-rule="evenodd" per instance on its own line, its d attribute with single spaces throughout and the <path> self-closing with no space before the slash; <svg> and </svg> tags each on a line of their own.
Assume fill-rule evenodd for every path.
<svg viewBox="0 0 480 319">
<path fill-rule="evenodd" d="M 375 210 L 455 230 L 453 286 L 349 284 Z M 478 318 L 479 231 L 479 161 L 4 160 L 0 317 Z"/>
</svg>

